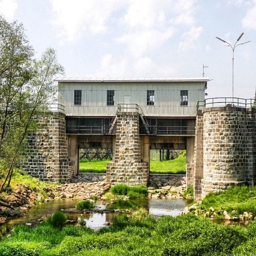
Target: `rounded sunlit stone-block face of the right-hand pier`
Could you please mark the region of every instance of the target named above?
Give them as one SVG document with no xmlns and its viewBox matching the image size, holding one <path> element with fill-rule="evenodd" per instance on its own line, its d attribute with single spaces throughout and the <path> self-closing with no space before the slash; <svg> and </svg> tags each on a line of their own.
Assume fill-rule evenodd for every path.
<svg viewBox="0 0 256 256">
<path fill-rule="evenodd" d="M 245 181 L 247 112 L 245 108 L 213 107 L 206 108 L 203 116 L 202 198 Z"/>
</svg>

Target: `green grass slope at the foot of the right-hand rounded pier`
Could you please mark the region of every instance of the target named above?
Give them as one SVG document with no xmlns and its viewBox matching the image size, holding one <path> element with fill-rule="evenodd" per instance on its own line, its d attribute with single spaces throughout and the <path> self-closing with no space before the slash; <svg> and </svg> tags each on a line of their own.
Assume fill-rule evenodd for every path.
<svg viewBox="0 0 256 256">
<path fill-rule="evenodd" d="M 243 212 L 256 215 L 256 187 L 233 186 L 225 192 L 210 192 L 202 200 L 200 209 L 209 211 L 210 207 L 213 207 L 215 212 L 226 210 L 230 216 L 237 216 Z"/>
</svg>

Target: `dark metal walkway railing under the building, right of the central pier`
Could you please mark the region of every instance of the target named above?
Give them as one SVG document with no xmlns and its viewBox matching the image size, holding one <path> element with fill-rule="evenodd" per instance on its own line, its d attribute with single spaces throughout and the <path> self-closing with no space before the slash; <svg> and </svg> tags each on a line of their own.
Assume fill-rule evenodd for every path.
<svg viewBox="0 0 256 256">
<path fill-rule="evenodd" d="M 140 126 L 140 134 L 147 134 L 145 126 Z M 144 128 L 144 129 L 143 129 Z M 152 135 L 184 135 L 195 134 L 195 126 L 148 126 Z"/>
</svg>

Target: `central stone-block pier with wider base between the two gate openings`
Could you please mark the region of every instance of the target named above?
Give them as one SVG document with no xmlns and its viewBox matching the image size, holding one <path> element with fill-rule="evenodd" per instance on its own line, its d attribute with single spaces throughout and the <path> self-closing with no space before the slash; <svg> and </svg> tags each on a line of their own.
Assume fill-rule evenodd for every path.
<svg viewBox="0 0 256 256">
<path fill-rule="evenodd" d="M 111 185 L 148 183 L 149 164 L 142 162 L 139 121 L 137 112 L 117 113 L 114 161 L 106 170 L 106 181 Z"/>
</svg>

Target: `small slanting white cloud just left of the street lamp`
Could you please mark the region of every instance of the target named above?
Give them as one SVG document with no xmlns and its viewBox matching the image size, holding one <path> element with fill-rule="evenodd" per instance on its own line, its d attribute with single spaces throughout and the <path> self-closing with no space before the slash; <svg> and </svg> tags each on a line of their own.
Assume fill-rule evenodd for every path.
<svg viewBox="0 0 256 256">
<path fill-rule="evenodd" d="M 186 51 L 194 48 L 194 42 L 198 40 L 199 36 L 203 31 L 203 27 L 192 27 L 190 30 L 183 35 L 186 38 L 183 42 L 179 43 L 179 50 Z"/>
</svg>

